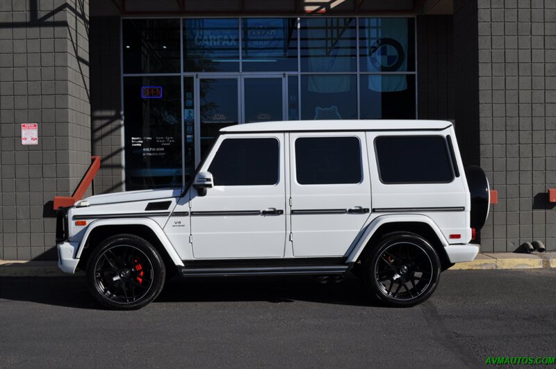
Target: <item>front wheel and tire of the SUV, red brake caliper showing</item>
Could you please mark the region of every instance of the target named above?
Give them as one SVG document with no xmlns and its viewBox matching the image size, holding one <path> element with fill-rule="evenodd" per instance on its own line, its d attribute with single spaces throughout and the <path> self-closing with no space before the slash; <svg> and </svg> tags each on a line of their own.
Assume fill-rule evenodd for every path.
<svg viewBox="0 0 556 369">
<path fill-rule="evenodd" d="M 102 241 L 92 250 L 87 264 L 89 290 L 108 309 L 142 308 L 161 293 L 165 277 L 158 251 L 132 234 Z"/>
</svg>

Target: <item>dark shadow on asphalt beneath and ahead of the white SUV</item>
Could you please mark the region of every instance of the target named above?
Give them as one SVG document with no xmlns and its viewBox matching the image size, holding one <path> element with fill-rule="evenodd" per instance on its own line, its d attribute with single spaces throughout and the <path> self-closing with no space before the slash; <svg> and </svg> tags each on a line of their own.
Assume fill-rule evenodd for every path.
<svg viewBox="0 0 556 369">
<path fill-rule="evenodd" d="M 84 277 L 0 277 L 0 299 L 74 309 L 104 309 L 90 295 Z M 355 277 L 327 284 L 321 284 L 315 277 L 174 278 L 167 281 L 154 304 L 172 302 L 316 302 L 381 306 Z"/>
</svg>

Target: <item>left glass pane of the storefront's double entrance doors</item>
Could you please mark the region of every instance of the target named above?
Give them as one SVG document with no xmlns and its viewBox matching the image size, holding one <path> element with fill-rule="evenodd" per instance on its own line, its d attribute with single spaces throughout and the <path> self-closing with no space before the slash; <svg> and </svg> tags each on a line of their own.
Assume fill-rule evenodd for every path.
<svg viewBox="0 0 556 369">
<path fill-rule="evenodd" d="M 239 76 L 199 76 L 197 79 L 196 163 L 210 149 L 219 130 L 240 120 Z"/>
</svg>

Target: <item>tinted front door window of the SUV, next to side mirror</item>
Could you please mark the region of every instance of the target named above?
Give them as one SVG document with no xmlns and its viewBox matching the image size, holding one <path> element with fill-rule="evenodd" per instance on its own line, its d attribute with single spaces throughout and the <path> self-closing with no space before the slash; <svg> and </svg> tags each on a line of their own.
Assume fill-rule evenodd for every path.
<svg viewBox="0 0 556 369">
<path fill-rule="evenodd" d="M 279 143 L 275 138 L 227 138 L 208 172 L 215 186 L 275 185 L 279 175 Z"/>
</svg>

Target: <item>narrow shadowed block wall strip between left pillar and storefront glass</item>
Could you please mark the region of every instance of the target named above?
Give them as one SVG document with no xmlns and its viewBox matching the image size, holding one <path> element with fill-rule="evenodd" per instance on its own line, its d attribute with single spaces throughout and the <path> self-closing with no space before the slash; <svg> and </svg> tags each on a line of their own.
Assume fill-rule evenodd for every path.
<svg viewBox="0 0 556 369">
<path fill-rule="evenodd" d="M 122 188 L 120 17 L 90 19 L 91 149 L 101 156 L 95 193 Z"/>
</svg>

